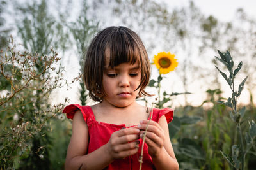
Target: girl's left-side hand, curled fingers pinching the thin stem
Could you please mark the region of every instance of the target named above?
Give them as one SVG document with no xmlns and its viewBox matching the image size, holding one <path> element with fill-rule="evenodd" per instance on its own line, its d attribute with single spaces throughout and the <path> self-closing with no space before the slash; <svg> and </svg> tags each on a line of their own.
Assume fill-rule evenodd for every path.
<svg viewBox="0 0 256 170">
<path fill-rule="evenodd" d="M 138 141 L 140 130 L 137 128 L 126 128 L 113 132 L 106 145 L 112 159 L 124 159 L 138 152 Z"/>
</svg>

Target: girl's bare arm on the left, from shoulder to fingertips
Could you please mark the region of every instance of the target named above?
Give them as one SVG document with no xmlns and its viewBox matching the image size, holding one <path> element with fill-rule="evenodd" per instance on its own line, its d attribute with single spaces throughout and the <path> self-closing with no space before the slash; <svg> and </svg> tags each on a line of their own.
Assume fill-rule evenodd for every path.
<svg viewBox="0 0 256 170">
<path fill-rule="evenodd" d="M 72 122 L 72 136 L 68 145 L 65 169 L 104 169 L 113 160 L 127 157 L 138 151 L 134 141 L 138 139 L 138 133 L 139 130 L 136 128 L 113 132 L 106 145 L 86 155 L 88 127 L 81 111 L 77 110 Z M 128 143 L 129 141 L 133 142 Z"/>
</svg>

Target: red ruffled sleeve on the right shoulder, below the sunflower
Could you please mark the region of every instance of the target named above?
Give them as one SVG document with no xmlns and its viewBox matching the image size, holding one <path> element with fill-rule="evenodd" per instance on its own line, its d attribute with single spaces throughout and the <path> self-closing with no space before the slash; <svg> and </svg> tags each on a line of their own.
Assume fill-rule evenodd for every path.
<svg viewBox="0 0 256 170">
<path fill-rule="evenodd" d="M 173 111 L 174 110 L 172 108 L 163 108 L 163 109 L 154 108 L 154 114 L 153 114 L 152 120 L 158 123 L 159 119 L 164 115 L 167 123 L 170 123 L 172 122 L 172 119 L 173 119 Z"/>
</svg>

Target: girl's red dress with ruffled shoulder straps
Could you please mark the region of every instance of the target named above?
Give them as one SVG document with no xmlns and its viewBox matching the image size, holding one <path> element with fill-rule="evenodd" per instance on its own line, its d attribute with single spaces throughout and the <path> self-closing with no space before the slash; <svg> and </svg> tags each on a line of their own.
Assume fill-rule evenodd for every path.
<svg viewBox="0 0 256 170">
<path fill-rule="evenodd" d="M 122 128 L 128 128 L 125 124 L 108 124 L 105 122 L 97 122 L 95 120 L 92 108 L 90 106 L 80 106 L 79 104 L 70 104 L 64 108 L 63 113 L 67 113 L 67 118 L 72 119 L 74 117 L 74 113 L 76 110 L 81 110 L 83 114 L 84 121 L 88 126 L 88 134 L 89 134 L 89 143 L 87 153 L 91 153 L 100 146 L 108 143 L 111 134 L 115 131 L 118 131 Z M 154 108 L 153 109 L 153 117 L 152 120 L 155 122 L 159 122 L 159 118 L 165 115 L 167 122 L 171 122 L 173 119 L 173 110 L 171 108 L 164 108 L 162 110 Z M 109 164 L 106 169 L 139 169 L 140 162 L 138 162 L 138 157 L 141 154 L 141 145 L 142 140 L 140 139 L 140 147 L 138 153 L 135 155 L 131 155 L 129 157 L 125 157 L 125 159 L 118 159 Z M 155 169 L 152 163 L 152 158 L 148 154 L 147 150 L 148 146 L 145 143 L 143 148 L 143 164 L 142 169 Z"/>
</svg>

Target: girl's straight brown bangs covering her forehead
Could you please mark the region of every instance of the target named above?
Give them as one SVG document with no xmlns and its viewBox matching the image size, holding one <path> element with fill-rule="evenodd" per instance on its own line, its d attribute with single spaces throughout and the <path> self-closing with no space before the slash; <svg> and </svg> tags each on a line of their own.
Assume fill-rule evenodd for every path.
<svg viewBox="0 0 256 170">
<path fill-rule="evenodd" d="M 105 66 L 114 68 L 122 63 L 135 64 L 136 62 L 140 66 L 141 52 L 136 40 L 122 29 L 111 33 L 106 45 Z"/>
</svg>

